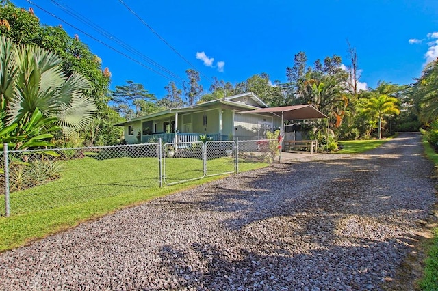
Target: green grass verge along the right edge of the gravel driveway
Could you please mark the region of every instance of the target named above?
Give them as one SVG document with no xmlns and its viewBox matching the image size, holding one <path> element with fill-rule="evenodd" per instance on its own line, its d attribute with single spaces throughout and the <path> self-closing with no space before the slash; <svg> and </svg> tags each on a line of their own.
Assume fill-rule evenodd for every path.
<svg viewBox="0 0 438 291">
<path fill-rule="evenodd" d="M 423 136 L 422 143 L 426 156 L 438 166 L 438 154 L 430 146 L 426 137 Z M 419 281 L 419 286 L 422 290 L 432 291 L 438 290 L 438 227 L 433 230 L 434 238 L 428 247 L 427 258 L 424 262 L 424 273 Z"/>
</svg>

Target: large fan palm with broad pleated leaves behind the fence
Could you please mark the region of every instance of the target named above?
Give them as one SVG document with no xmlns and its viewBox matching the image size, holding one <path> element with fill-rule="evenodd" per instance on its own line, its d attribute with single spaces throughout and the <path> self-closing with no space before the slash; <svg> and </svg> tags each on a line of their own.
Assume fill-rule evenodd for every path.
<svg viewBox="0 0 438 291">
<path fill-rule="evenodd" d="M 38 46 L 16 46 L 0 38 L 0 141 L 14 149 L 50 146 L 62 129 L 67 137 L 87 126 L 96 105 L 83 96 L 90 84 L 66 77 L 62 60 Z"/>
</svg>

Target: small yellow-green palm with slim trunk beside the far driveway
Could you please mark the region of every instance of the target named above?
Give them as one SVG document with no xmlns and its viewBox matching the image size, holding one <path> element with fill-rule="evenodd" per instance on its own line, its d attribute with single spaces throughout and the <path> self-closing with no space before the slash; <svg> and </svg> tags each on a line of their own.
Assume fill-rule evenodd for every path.
<svg viewBox="0 0 438 291">
<path fill-rule="evenodd" d="M 397 98 L 386 94 L 378 94 L 368 100 L 364 112 L 373 118 L 378 118 L 378 139 L 382 139 L 382 117 L 384 115 L 400 114 L 400 110 L 396 105 L 397 102 Z"/>
</svg>

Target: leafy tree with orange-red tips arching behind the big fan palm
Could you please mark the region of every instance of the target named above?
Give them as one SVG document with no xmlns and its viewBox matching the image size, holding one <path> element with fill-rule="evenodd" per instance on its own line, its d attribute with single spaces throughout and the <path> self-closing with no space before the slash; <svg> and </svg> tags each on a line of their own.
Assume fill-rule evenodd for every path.
<svg viewBox="0 0 438 291">
<path fill-rule="evenodd" d="M 99 145 L 120 142 L 122 128 L 114 127 L 113 124 L 120 122 L 122 118 L 114 114 L 114 110 L 108 105 L 110 71 L 108 68 L 101 68 L 101 59 L 94 55 L 78 36 L 68 36 L 61 26 L 40 24 L 31 8 L 16 8 L 10 1 L 1 1 L 0 33 L 16 44 L 35 44 L 55 53 L 62 60 L 62 70 L 67 78 L 79 73 L 88 81 L 90 88 L 83 94 L 94 100 L 97 107 L 96 120 L 88 130 L 81 131 L 79 139 L 75 139 L 79 144 L 72 144 L 73 140 L 59 137 L 64 143 L 79 146 L 83 141 L 88 141 L 90 145 L 90 135 L 94 137 L 92 141 Z"/>
</svg>

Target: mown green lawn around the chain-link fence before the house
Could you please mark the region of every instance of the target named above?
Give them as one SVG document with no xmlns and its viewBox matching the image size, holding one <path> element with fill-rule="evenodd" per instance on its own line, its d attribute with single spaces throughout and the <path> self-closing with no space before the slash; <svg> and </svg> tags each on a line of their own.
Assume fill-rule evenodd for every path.
<svg viewBox="0 0 438 291">
<path fill-rule="evenodd" d="M 240 171 L 266 165 L 240 163 Z M 169 158 L 166 159 L 166 167 L 166 181 L 170 182 L 203 176 L 203 161 L 199 159 Z M 75 227 L 83 221 L 155 197 L 217 180 L 224 176 L 221 172 L 233 171 L 233 159 L 209 160 L 207 169 L 207 174 L 218 176 L 159 188 L 157 158 L 97 161 L 86 157 L 68 161 L 60 179 L 10 194 L 11 216 L 0 217 L 0 251 L 25 245 L 32 240 Z"/>
</svg>

